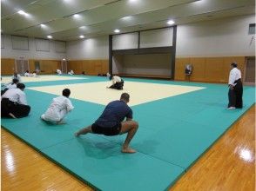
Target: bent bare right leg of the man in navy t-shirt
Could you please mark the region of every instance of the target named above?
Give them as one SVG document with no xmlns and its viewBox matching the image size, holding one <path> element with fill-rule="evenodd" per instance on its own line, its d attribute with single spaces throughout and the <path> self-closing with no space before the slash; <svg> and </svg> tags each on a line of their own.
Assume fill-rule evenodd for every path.
<svg viewBox="0 0 256 191">
<path fill-rule="evenodd" d="M 135 153 L 136 150 L 129 148 L 129 144 L 131 142 L 131 139 L 133 136 L 136 134 L 138 130 L 138 122 L 135 121 L 125 121 L 121 122 L 121 131 L 120 135 L 127 133 L 125 142 L 122 147 L 122 152 L 123 153 Z"/>
</svg>

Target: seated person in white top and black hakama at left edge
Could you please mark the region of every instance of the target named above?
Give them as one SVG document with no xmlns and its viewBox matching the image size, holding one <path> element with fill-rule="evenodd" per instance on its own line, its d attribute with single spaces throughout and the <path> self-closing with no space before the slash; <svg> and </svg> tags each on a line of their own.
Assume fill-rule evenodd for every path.
<svg viewBox="0 0 256 191">
<path fill-rule="evenodd" d="M 17 89 L 8 89 L 1 100 L 1 117 L 21 118 L 29 115 L 30 106 L 24 93 L 24 83 L 18 83 Z"/>
</svg>

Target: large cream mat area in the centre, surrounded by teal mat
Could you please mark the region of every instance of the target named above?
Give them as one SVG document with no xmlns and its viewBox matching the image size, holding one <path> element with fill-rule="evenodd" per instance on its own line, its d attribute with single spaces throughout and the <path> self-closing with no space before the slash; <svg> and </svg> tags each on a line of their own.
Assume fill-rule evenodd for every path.
<svg viewBox="0 0 256 191">
<path fill-rule="evenodd" d="M 83 100 L 86 102 L 95 102 L 106 105 L 108 102 L 118 100 L 124 92 L 130 94 L 130 106 L 138 105 L 144 102 L 152 102 L 169 96 L 181 95 L 199 89 L 205 89 L 195 86 L 180 86 L 146 82 L 125 82 L 123 90 L 106 89 L 108 82 L 88 82 L 57 86 L 44 86 L 28 88 L 45 93 L 61 95 L 63 89 L 71 89 L 71 98 Z"/>
</svg>

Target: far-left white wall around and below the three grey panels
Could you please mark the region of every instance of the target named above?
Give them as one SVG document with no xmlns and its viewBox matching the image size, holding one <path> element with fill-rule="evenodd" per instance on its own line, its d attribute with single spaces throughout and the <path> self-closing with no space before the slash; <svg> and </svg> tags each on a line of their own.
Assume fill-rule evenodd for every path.
<svg viewBox="0 0 256 191">
<path fill-rule="evenodd" d="M 24 59 L 43 59 L 43 60 L 61 60 L 66 57 L 66 53 L 59 53 L 56 51 L 55 41 L 50 42 L 50 51 L 37 51 L 36 39 L 29 39 L 29 50 L 12 49 L 11 36 L 3 35 L 1 41 L 3 41 L 1 49 L 2 58 L 20 58 Z"/>
</svg>

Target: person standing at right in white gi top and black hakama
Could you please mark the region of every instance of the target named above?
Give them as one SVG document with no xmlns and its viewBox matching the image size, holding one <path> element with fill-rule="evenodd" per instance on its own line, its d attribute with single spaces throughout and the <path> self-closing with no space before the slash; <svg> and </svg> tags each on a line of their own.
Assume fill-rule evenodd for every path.
<svg viewBox="0 0 256 191">
<path fill-rule="evenodd" d="M 228 80 L 228 109 L 243 108 L 243 84 L 241 81 L 241 71 L 237 69 L 237 63 L 231 63 L 231 71 Z"/>
</svg>

